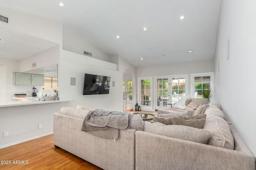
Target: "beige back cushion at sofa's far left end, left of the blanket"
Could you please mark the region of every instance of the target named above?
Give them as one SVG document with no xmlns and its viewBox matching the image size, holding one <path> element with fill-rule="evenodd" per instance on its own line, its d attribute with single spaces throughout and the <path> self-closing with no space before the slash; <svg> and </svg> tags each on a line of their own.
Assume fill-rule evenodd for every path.
<svg viewBox="0 0 256 170">
<path fill-rule="evenodd" d="M 75 109 L 72 107 L 62 107 L 60 113 L 68 116 L 84 119 L 89 111 L 84 109 Z"/>
</svg>

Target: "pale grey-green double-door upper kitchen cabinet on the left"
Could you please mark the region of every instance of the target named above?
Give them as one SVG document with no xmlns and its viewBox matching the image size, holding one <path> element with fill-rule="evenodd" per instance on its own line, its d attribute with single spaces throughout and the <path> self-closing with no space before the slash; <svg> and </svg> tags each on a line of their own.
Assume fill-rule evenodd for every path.
<svg viewBox="0 0 256 170">
<path fill-rule="evenodd" d="M 13 73 L 13 85 L 44 86 L 44 74 Z"/>
</svg>

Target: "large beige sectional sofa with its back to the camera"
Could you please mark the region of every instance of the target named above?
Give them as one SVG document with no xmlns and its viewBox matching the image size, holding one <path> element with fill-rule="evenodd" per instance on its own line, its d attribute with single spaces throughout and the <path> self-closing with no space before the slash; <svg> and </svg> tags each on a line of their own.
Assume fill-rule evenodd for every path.
<svg viewBox="0 0 256 170">
<path fill-rule="evenodd" d="M 54 113 L 54 145 L 105 170 L 255 170 L 254 155 L 224 113 L 208 105 L 202 129 L 145 122 L 144 131 L 119 130 L 116 141 L 81 131 L 81 109 L 61 111 Z"/>
</svg>

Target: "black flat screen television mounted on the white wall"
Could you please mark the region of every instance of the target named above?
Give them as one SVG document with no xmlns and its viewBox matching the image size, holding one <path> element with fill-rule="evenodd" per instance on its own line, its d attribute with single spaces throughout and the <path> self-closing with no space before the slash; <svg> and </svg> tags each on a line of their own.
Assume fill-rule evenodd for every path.
<svg viewBox="0 0 256 170">
<path fill-rule="evenodd" d="M 94 74 L 84 74 L 83 95 L 109 94 L 110 77 Z"/>
</svg>

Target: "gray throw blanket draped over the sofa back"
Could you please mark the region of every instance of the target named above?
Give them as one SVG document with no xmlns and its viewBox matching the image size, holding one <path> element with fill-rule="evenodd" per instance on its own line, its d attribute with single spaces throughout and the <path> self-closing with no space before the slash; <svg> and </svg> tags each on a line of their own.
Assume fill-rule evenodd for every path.
<svg viewBox="0 0 256 170">
<path fill-rule="evenodd" d="M 86 115 L 81 130 L 129 129 L 133 116 L 130 112 L 95 109 Z"/>
</svg>

